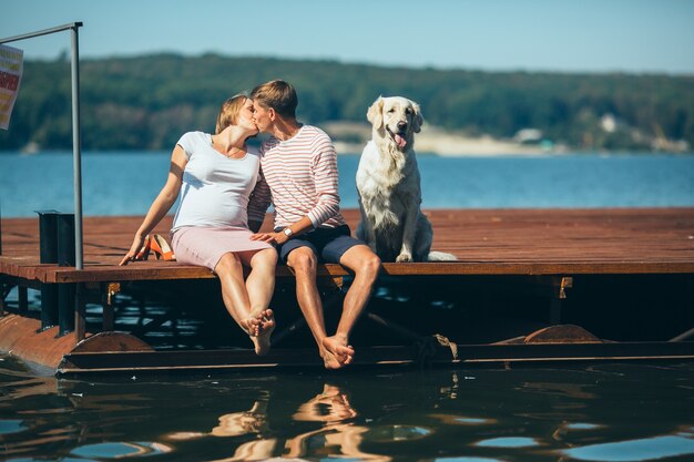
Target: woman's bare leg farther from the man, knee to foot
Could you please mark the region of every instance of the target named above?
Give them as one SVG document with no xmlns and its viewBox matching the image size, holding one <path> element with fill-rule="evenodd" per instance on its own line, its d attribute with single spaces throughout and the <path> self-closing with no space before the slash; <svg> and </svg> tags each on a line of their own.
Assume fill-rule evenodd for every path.
<svg viewBox="0 0 694 462">
<path fill-rule="evenodd" d="M 251 300 L 244 283 L 241 258 L 234 253 L 226 253 L 220 258 L 214 271 L 222 284 L 222 299 L 226 310 L 251 337 L 255 346 L 255 352 L 258 355 L 264 353 L 265 351 L 258 345 L 257 339 L 257 336 L 261 333 L 261 319 L 251 314 Z"/>
</svg>

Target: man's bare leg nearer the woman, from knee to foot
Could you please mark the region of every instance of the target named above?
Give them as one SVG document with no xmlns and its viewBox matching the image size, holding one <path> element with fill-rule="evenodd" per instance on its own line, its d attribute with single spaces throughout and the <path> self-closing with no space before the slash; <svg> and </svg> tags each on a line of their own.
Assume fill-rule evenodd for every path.
<svg viewBox="0 0 694 462">
<path fill-rule="evenodd" d="M 320 294 L 316 286 L 316 266 L 318 258 L 309 247 L 299 247 L 289 253 L 287 265 L 294 269 L 296 276 L 296 299 L 302 309 L 306 324 L 318 345 L 318 351 L 327 369 L 338 369 L 341 363 L 335 355 L 323 346 L 326 338 L 325 318 Z"/>
</svg>

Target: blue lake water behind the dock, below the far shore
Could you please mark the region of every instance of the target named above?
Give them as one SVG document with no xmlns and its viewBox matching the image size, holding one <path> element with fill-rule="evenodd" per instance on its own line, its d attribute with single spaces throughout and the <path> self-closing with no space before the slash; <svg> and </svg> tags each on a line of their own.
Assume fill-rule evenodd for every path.
<svg viewBox="0 0 694 462">
<path fill-rule="evenodd" d="M 83 213 L 144 215 L 169 153 L 84 153 Z M 359 157 L 339 157 L 340 196 L 357 207 Z M 419 156 L 425 208 L 694 206 L 693 155 Z M 0 212 L 73 212 L 71 153 L 0 154 Z"/>
</svg>

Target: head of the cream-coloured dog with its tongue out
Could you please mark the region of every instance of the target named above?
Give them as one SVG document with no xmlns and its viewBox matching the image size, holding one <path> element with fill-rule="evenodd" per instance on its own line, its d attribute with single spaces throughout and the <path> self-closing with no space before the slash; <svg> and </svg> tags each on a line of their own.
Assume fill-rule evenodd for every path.
<svg viewBox="0 0 694 462">
<path fill-rule="evenodd" d="M 419 133 L 423 123 L 419 104 L 402 96 L 378 96 L 366 119 L 380 137 L 389 138 L 399 151 L 412 143 L 415 133 Z"/>
</svg>

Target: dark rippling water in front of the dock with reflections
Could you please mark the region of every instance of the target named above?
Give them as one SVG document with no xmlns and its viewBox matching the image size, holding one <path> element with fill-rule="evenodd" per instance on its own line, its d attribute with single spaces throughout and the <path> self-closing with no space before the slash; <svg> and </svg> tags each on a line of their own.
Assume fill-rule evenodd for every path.
<svg viewBox="0 0 694 462">
<path fill-rule="evenodd" d="M 0 460 L 694 458 L 692 363 L 72 381 L 4 359 Z"/>
</svg>

